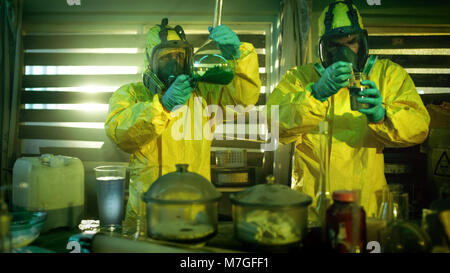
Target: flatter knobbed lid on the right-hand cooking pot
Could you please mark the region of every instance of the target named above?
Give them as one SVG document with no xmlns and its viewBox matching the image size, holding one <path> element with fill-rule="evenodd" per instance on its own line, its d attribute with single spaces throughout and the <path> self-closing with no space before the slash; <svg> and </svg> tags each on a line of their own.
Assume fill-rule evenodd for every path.
<svg viewBox="0 0 450 273">
<path fill-rule="evenodd" d="M 309 195 L 280 184 L 259 184 L 231 194 L 230 199 L 234 204 L 264 206 L 308 206 L 312 202 Z"/>
</svg>

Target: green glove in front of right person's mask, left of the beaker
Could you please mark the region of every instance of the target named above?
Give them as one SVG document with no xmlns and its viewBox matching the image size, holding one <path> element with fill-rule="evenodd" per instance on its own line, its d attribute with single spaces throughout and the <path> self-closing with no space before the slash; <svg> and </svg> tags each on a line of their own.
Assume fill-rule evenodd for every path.
<svg viewBox="0 0 450 273">
<path fill-rule="evenodd" d="M 336 94 L 349 84 L 352 78 L 352 64 L 336 62 L 325 70 L 319 81 L 312 86 L 313 96 L 321 102 Z"/>
</svg>

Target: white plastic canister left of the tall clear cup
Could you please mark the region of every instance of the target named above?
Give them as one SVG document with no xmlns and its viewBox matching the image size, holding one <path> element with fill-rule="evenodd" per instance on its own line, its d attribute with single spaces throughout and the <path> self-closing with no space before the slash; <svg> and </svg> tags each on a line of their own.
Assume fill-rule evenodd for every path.
<svg viewBox="0 0 450 273">
<path fill-rule="evenodd" d="M 44 154 L 14 163 L 13 205 L 47 211 L 43 231 L 76 227 L 84 215 L 84 194 L 84 167 L 78 158 Z"/>
</svg>

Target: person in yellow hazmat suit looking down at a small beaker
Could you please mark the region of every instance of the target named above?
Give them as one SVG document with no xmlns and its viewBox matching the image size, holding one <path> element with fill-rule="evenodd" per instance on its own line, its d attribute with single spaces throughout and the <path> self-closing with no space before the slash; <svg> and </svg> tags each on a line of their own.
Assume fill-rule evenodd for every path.
<svg viewBox="0 0 450 273">
<path fill-rule="evenodd" d="M 279 107 L 281 143 L 295 142 L 291 186 L 317 198 L 320 135 L 328 121 L 329 192 L 360 190 L 368 217 L 377 215 L 377 192 L 386 185 L 384 147 L 408 147 L 428 135 L 430 117 L 408 73 L 398 64 L 369 56 L 367 31 L 349 1 L 328 5 L 319 18 L 321 64 L 290 69 L 273 90 L 268 110 Z M 368 74 L 350 108 L 352 70 Z M 316 200 L 317 201 L 317 200 Z"/>
</svg>

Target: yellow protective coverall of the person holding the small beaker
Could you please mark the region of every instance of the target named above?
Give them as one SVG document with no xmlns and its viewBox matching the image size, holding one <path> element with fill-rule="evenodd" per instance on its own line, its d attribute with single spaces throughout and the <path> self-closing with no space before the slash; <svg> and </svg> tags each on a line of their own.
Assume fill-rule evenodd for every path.
<svg viewBox="0 0 450 273">
<path fill-rule="evenodd" d="M 407 72 L 398 64 L 378 60 L 370 75 L 378 86 L 386 117 L 368 123 L 364 114 L 350 110 L 348 88 L 325 102 L 312 96 L 311 86 L 320 78 L 313 64 L 289 70 L 270 95 L 268 107 L 279 105 L 280 142 L 295 141 L 292 188 L 316 197 L 320 161 L 317 127 L 329 121 L 330 192 L 361 190 L 361 204 L 368 216 L 377 213 L 376 191 L 386 185 L 384 147 L 408 147 L 428 135 L 430 117 Z"/>
</svg>

